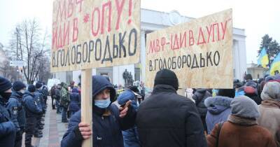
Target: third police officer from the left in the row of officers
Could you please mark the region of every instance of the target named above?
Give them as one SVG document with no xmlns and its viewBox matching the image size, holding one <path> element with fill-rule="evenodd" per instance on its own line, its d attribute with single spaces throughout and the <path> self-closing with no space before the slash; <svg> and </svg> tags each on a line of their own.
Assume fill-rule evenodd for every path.
<svg viewBox="0 0 280 147">
<path fill-rule="evenodd" d="M 36 127 L 36 118 L 43 113 L 42 109 L 38 106 L 38 102 L 34 99 L 35 86 L 29 85 L 28 90 L 23 95 L 23 102 L 25 104 L 26 112 L 26 134 L 25 134 L 25 146 L 31 147 L 31 138 L 34 135 Z"/>
</svg>

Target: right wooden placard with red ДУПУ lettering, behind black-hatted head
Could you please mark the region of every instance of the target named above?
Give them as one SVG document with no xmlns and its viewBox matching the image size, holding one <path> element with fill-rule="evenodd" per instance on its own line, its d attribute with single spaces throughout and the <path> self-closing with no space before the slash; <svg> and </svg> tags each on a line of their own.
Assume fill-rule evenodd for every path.
<svg viewBox="0 0 280 147">
<path fill-rule="evenodd" d="M 179 87 L 232 88 L 232 9 L 147 34 L 146 86 L 171 69 Z"/>
</svg>

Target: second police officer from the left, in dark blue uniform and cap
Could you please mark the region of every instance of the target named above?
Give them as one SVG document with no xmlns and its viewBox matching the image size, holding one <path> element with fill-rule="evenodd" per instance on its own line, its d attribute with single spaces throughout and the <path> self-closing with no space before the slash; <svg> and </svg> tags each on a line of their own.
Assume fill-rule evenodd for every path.
<svg viewBox="0 0 280 147">
<path fill-rule="evenodd" d="M 25 93 L 26 86 L 20 81 L 13 83 L 13 92 L 8 100 L 7 108 L 11 112 L 12 121 L 17 128 L 15 137 L 15 147 L 22 146 L 22 134 L 25 130 L 25 109 L 23 106 L 22 96 Z"/>
</svg>

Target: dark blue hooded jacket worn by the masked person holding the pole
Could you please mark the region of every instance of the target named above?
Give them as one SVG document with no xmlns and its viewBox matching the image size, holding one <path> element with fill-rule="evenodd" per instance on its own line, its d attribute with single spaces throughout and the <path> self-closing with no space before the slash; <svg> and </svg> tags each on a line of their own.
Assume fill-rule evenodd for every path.
<svg viewBox="0 0 280 147">
<path fill-rule="evenodd" d="M 109 88 L 111 97 L 116 95 L 113 85 L 103 76 L 93 76 L 92 97 L 95 97 L 105 88 Z M 130 129 L 134 126 L 136 112 L 129 109 L 125 118 L 120 118 L 120 111 L 115 104 L 111 104 L 107 109 L 99 109 L 92 106 L 92 141 L 94 147 L 123 147 L 122 130 Z M 109 112 L 104 115 L 104 112 Z M 75 113 L 69 120 L 68 130 L 61 141 L 62 147 L 79 147 L 83 142 L 83 137 L 79 134 L 78 124 L 80 123 L 80 111 Z"/>
</svg>

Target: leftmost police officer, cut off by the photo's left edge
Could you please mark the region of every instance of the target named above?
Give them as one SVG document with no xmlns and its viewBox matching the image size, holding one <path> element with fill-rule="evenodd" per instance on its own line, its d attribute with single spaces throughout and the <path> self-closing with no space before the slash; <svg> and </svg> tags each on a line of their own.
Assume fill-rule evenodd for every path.
<svg viewBox="0 0 280 147">
<path fill-rule="evenodd" d="M 10 81 L 0 76 L 0 146 L 15 145 L 15 125 L 6 109 L 6 102 L 12 94 L 11 87 Z"/>
</svg>

